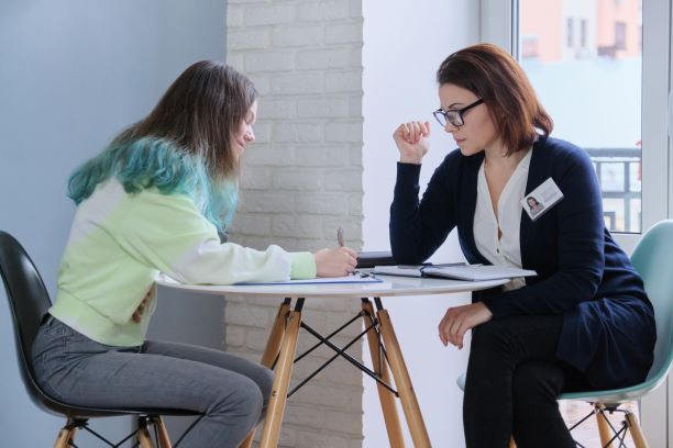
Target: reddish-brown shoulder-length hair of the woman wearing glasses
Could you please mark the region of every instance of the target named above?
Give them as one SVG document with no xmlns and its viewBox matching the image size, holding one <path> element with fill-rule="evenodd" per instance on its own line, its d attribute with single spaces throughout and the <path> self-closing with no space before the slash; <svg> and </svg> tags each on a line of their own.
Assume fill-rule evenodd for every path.
<svg viewBox="0 0 673 448">
<path fill-rule="evenodd" d="M 473 45 L 450 55 L 437 70 L 437 81 L 484 100 L 507 154 L 531 147 L 538 132 L 548 136 L 554 127 L 523 69 L 495 45 Z"/>
</svg>

